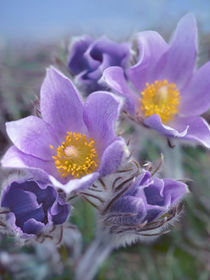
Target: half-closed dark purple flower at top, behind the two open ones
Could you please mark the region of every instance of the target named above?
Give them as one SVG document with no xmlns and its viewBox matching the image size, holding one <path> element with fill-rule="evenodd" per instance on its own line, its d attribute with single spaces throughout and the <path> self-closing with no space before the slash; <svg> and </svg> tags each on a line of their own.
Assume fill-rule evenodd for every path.
<svg viewBox="0 0 210 280">
<path fill-rule="evenodd" d="M 68 68 L 78 84 L 87 92 L 104 89 L 98 81 L 109 66 L 126 67 L 129 56 L 128 43 L 116 43 L 106 37 L 93 40 L 83 36 L 73 41 Z"/>
</svg>

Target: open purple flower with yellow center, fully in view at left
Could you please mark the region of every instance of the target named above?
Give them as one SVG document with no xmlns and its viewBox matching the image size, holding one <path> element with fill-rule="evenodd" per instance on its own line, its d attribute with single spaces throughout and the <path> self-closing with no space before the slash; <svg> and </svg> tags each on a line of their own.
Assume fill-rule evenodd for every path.
<svg viewBox="0 0 210 280">
<path fill-rule="evenodd" d="M 89 187 L 118 168 L 124 142 L 115 135 L 120 103 L 114 96 L 95 92 L 83 104 L 71 81 L 50 68 L 40 110 L 42 119 L 29 116 L 6 124 L 14 145 L 3 157 L 4 167 L 42 171 L 66 192 Z"/>
</svg>

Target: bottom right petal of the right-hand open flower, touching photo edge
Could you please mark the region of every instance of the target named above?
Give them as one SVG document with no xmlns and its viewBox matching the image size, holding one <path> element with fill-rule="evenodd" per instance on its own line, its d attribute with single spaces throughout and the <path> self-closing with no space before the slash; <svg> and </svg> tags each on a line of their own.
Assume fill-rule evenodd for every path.
<svg viewBox="0 0 210 280">
<path fill-rule="evenodd" d="M 201 117 L 176 118 L 174 123 L 177 129 L 183 129 L 188 126 L 187 134 L 184 140 L 194 140 L 206 148 L 210 148 L 210 127 L 206 120 Z"/>
</svg>

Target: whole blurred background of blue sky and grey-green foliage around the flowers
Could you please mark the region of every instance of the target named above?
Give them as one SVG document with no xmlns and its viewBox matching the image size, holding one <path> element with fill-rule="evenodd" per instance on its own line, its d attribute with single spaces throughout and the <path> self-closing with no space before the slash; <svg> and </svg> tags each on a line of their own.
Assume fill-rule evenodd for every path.
<svg viewBox="0 0 210 280">
<path fill-rule="evenodd" d="M 68 43 L 73 35 L 129 38 L 144 29 L 169 37 L 177 21 L 192 12 L 199 26 L 201 65 L 210 59 L 210 1 L 208 0 L 19 0 L 0 1 L 0 156 L 9 143 L 4 123 L 33 113 L 45 68 L 65 71 Z M 210 121 L 210 114 L 205 115 Z M 161 149 L 148 135 L 139 140 L 139 160 L 157 160 Z M 153 245 L 134 245 L 114 252 L 96 279 L 210 279 L 210 153 L 182 147 L 179 166 L 191 178 L 191 194 L 179 225 Z M 0 171 L 4 180 L 5 171 Z M 72 218 L 84 235 L 84 247 L 94 238 L 94 211 L 78 202 Z M 71 236 L 69 236 L 71 238 Z M 42 246 L 18 248 L 0 236 L 0 279 L 73 279 L 71 248 L 62 246 L 62 262 Z M 85 280 L 85 279 L 84 279 Z"/>
</svg>

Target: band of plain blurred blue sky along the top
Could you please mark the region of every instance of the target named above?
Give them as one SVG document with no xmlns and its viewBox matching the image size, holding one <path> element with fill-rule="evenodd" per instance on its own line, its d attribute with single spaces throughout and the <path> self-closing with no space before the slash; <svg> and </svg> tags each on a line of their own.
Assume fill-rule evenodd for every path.
<svg viewBox="0 0 210 280">
<path fill-rule="evenodd" d="M 168 31 L 187 12 L 210 28 L 208 0 L 1 0 L 0 37 L 48 41 L 67 34 L 106 34 L 117 39 L 142 29 Z"/>
</svg>

